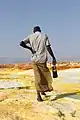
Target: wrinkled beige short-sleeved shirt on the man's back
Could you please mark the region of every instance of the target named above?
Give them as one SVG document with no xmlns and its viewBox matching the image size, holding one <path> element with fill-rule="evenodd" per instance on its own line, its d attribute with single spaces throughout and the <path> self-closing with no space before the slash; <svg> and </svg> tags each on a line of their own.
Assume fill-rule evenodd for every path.
<svg viewBox="0 0 80 120">
<path fill-rule="evenodd" d="M 40 32 L 35 32 L 26 37 L 23 41 L 25 44 L 29 44 L 33 51 L 36 51 L 31 58 L 33 62 L 44 63 L 47 61 L 48 56 L 46 46 L 50 45 L 47 35 L 43 35 Z"/>
</svg>

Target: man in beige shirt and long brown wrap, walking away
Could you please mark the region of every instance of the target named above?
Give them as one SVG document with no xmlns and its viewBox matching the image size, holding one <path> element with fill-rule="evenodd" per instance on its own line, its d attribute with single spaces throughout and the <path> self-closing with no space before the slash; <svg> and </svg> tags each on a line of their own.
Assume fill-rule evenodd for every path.
<svg viewBox="0 0 80 120">
<path fill-rule="evenodd" d="M 47 68 L 47 51 L 52 56 L 52 64 L 56 64 L 48 36 L 41 33 L 39 26 L 35 26 L 33 33 L 21 41 L 20 46 L 32 52 L 32 67 L 35 76 L 37 100 L 43 101 L 41 94 L 46 95 L 45 92 L 53 90 L 51 74 Z"/>
</svg>

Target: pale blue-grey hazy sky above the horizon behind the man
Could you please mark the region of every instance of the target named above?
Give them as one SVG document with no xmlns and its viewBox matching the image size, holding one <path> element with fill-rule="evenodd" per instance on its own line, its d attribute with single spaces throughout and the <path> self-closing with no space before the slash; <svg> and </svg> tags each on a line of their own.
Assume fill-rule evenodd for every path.
<svg viewBox="0 0 80 120">
<path fill-rule="evenodd" d="M 80 58 L 80 0 L 0 0 L 0 57 L 26 57 L 19 46 L 39 25 L 57 59 Z"/>
</svg>

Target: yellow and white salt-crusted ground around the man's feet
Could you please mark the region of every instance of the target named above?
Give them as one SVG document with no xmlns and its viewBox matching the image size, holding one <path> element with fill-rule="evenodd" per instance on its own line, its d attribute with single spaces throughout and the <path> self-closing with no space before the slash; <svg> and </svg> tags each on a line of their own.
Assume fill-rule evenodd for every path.
<svg viewBox="0 0 80 120">
<path fill-rule="evenodd" d="M 32 69 L 1 69 L 0 120 L 80 120 L 80 68 L 58 71 L 52 85 L 37 102 Z"/>
</svg>

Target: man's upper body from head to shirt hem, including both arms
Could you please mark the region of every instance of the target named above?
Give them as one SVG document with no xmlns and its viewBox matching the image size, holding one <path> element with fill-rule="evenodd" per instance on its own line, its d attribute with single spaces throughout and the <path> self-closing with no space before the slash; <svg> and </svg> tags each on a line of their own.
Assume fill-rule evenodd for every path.
<svg viewBox="0 0 80 120">
<path fill-rule="evenodd" d="M 30 44 L 28 46 L 27 44 Z M 29 49 L 32 52 L 32 61 L 44 63 L 47 61 L 47 51 L 53 58 L 53 64 L 56 64 L 56 59 L 50 47 L 50 42 L 47 35 L 41 33 L 39 26 L 34 27 L 33 34 L 26 37 L 20 42 L 20 46 Z"/>
</svg>

